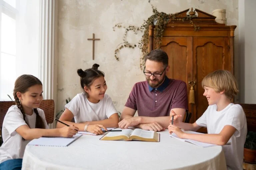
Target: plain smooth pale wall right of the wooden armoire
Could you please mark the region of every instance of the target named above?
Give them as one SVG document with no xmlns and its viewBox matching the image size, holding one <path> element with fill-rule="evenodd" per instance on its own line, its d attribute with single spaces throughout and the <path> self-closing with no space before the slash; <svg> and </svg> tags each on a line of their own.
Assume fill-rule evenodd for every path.
<svg viewBox="0 0 256 170">
<path fill-rule="evenodd" d="M 256 103 L 256 1 L 239 0 L 240 102 Z"/>
</svg>

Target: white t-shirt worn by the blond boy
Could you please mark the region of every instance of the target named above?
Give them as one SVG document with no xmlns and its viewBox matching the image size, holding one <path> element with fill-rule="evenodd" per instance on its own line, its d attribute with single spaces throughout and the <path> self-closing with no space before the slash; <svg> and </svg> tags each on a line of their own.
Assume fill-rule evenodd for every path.
<svg viewBox="0 0 256 170">
<path fill-rule="evenodd" d="M 231 145 L 223 145 L 223 151 L 228 169 L 241 170 L 243 163 L 244 142 L 247 134 L 247 123 L 244 110 L 239 104 L 230 103 L 221 111 L 217 111 L 217 105 L 208 106 L 204 114 L 197 119 L 196 124 L 207 127 L 209 134 L 218 134 L 225 125 L 236 128 L 235 133 L 228 142 Z"/>
</svg>

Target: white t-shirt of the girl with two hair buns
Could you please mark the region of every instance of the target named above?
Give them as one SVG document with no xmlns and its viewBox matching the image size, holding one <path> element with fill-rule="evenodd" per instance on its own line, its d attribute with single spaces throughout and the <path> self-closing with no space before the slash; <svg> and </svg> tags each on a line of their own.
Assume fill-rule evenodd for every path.
<svg viewBox="0 0 256 170">
<path fill-rule="evenodd" d="M 98 103 L 92 103 L 85 93 L 79 93 L 65 105 L 66 108 L 74 114 L 76 123 L 104 120 L 117 113 L 112 99 L 107 94 Z"/>
</svg>

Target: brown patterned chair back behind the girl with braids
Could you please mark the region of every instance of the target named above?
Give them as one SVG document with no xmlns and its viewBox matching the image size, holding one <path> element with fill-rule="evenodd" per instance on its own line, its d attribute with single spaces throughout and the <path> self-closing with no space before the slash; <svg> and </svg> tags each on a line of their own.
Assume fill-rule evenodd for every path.
<svg viewBox="0 0 256 170">
<path fill-rule="evenodd" d="M 4 116 L 12 105 L 15 105 L 14 101 L 0 101 L 0 127 L 3 126 Z M 52 123 L 54 119 L 54 100 L 43 100 L 39 108 L 44 110 L 46 122 Z"/>
</svg>

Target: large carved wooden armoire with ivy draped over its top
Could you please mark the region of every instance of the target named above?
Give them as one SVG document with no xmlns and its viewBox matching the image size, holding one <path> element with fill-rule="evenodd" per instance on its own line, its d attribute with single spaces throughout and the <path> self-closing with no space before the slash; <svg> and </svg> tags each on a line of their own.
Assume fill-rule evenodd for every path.
<svg viewBox="0 0 256 170">
<path fill-rule="evenodd" d="M 170 70 L 167 77 L 186 82 L 188 96 L 191 85 L 195 83 L 193 86 L 195 103 L 189 103 L 189 111 L 192 112 L 190 122 L 195 122 L 208 107 L 201 85 L 203 78 L 219 69 L 234 74 L 236 26 L 219 24 L 215 22 L 215 16 L 198 9 L 195 11 L 197 17 L 192 18 L 192 22 L 182 20 L 189 9 L 178 13 L 175 19 L 170 19 L 161 44 L 161 49 L 169 57 Z M 153 33 L 154 26 L 149 26 L 149 51 L 158 48 L 157 45 L 155 47 Z"/>
</svg>

